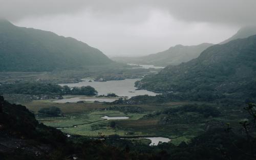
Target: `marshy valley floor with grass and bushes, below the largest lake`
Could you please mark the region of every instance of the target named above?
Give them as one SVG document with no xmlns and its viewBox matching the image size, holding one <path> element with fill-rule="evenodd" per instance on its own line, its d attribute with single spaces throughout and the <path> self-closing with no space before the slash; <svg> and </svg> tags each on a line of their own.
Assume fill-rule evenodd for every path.
<svg viewBox="0 0 256 160">
<path fill-rule="evenodd" d="M 40 108 L 59 107 L 62 117 L 37 117 L 38 121 L 56 128 L 68 127 L 61 130 L 69 134 L 95 137 L 101 132 L 105 136 L 164 136 L 172 139 L 172 143 L 176 145 L 182 141 L 189 142 L 205 132 L 206 128 L 222 126 L 227 122 L 232 125 L 239 124 L 244 115 L 241 105 L 231 101 L 218 104 L 168 102 L 136 105 L 53 103 L 51 100 L 36 100 L 26 103 L 26 106 L 36 114 Z M 103 116 L 125 116 L 129 119 L 104 120 L 101 118 Z M 115 128 L 110 127 L 111 121 L 116 122 Z"/>
</svg>

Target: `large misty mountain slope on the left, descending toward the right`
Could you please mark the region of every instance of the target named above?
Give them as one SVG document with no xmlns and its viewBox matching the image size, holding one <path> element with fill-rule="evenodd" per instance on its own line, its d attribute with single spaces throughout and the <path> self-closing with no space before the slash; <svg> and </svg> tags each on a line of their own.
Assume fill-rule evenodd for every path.
<svg viewBox="0 0 256 160">
<path fill-rule="evenodd" d="M 52 71 L 111 63 L 101 51 L 71 37 L 17 27 L 0 19 L 0 71 Z"/>
</svg>

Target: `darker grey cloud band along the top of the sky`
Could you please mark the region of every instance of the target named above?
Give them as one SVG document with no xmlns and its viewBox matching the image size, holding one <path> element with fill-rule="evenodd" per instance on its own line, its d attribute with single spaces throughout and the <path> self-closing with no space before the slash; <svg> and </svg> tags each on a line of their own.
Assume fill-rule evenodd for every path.
<svg viewBox="0 0 256 160">
<path fill-rule="evenodd" d="M 95 16 L 132 14 L 135 8 L 167 10 L 172 16 L 185 21 L 219 22 L 224 24 L 255 24 L 254 0 L 0 0 L 0 15 L 18 20 L 27 16 L 72 14 L 90 10 Z M 140 16 L 134 15 L 134 21 Z M 127 19 L 132 20 L 132 19 Z"/>
</svg>

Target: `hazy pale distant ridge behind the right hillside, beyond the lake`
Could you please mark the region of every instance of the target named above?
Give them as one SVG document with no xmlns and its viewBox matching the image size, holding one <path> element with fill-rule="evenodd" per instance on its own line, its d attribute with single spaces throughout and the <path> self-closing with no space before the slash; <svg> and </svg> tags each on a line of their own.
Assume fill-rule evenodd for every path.
<svg viewBox="0 0 256 160">
<path fill-rule="evenodd" d="M 187 62 L 191 59 L 197 58 L 201 52 L 210 47 L 211 43 L 202 43 L 199 45 L 175 45 L 168 50 L 150 54 L 142 57 L 114 57 L 112 60 L 123 63 L 135 64 L 153 64 L 156 66 L 178 65 L 182 62 Z"/>
</svg>

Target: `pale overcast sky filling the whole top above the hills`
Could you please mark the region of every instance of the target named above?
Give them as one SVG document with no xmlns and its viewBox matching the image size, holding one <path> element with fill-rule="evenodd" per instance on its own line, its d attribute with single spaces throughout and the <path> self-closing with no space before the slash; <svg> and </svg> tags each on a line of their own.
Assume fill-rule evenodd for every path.
<svg viewBox="0 0 256 160">
<path fill-rule="evenodd" d="M 110 57 L 219 43 L 255 25 L 255 8 L 255 0 L 0 0 L 0 16 L 13 24 L 76 38 Z"/>
</svg>

